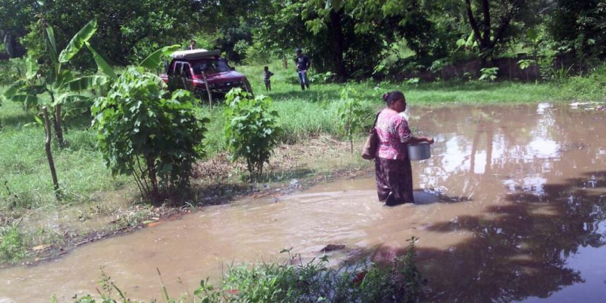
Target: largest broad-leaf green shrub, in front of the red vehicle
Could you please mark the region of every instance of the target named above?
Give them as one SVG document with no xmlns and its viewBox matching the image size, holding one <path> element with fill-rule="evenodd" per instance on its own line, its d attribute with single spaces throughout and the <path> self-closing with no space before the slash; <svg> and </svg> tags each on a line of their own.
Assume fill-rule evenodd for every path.
<svg viewBox="0 0 606 303">
<path fill-rule="evenodd" d="M 196 118 L 189 92 L 170 94 L 141 67 L 129 67 L 93 105 L 93 127 L 112 173 L 130 174 L 151 201 L 187 189 L 191 166 L 204 155 L 206 119 Z"/>
</svg>

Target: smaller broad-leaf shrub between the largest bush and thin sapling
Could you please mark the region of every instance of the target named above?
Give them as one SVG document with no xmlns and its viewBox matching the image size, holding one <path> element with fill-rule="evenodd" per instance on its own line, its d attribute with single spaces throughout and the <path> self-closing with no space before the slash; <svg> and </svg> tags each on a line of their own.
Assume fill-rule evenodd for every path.
<svg viewBox="0 0 606 303">
<path fill-rule="evenodd" d="M 278 144 L 281 128 L 278 112 L 271 110 L 271 98 L 253 96 L 233 88 L 225 96 L 225 139 L 231 158 L 246 159 L 250 180 L 261 177 L 263 164 L 269 161 Z"/>
</svg>

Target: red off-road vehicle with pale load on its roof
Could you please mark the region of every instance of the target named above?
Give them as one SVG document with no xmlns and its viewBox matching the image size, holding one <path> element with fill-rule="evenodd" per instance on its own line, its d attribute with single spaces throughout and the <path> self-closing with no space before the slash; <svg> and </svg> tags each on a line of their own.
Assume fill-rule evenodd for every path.
<svg viewBox="0 0 606 303">
<path fill-rule="evenodd" d="M 199 96 L 207 93 L 207 85 L 212 93 L 225 94 L 233 87 L 252 93 L 246 76 L 235 72 L 220 55 L 219 50 L 204 49 L 174 52 L 160 78 L 171 91 L 181 88 Z"/>
</svg>

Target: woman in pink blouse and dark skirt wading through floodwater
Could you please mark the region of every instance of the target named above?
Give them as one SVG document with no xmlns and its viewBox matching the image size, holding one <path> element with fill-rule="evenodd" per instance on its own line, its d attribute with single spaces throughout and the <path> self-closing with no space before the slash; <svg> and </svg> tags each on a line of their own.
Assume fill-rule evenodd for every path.
<svg viewBox="0 0 606 303">
<path fill-rule="evenodd" d="M 387 107 L 381 110 L 375 125 L 379 135 L 375 158 L 379 201 L 385 201 L 388 206 L 414 203 L 413 173 L 406 145 L 418 142 L 433 144 L 433 138 L 413 136 L 410 132 L 408 121 L 399 115 L 406 110 L 402 92 L 385 93 L 383 101 Z"/>
</svg>

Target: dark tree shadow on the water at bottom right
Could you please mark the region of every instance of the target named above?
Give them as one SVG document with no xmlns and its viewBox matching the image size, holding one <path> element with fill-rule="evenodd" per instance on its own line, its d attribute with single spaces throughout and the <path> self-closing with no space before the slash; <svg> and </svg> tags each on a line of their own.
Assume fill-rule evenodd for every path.
<svg viewBox="0 0 606 303">
<path fill-rule="evenodd" d="M 492 205 L 488 216 L 459 216 L 429 227 L 473 237 L 447 250 L 415 248 L 428 279 L 423 301 L 522 301 L 584 283 L 579 271 L 567 267 L 567 259 L 581 247 L 606 244 L 599 230 L 606 221 L 606 171 L 584 175 L 545 184 L 540 193 L 517 188 L 507 195 L 513 204 Z M 405 248 L 379 245 L 367 253 L 393 257 L 404 255 Z"/>
</svg>

